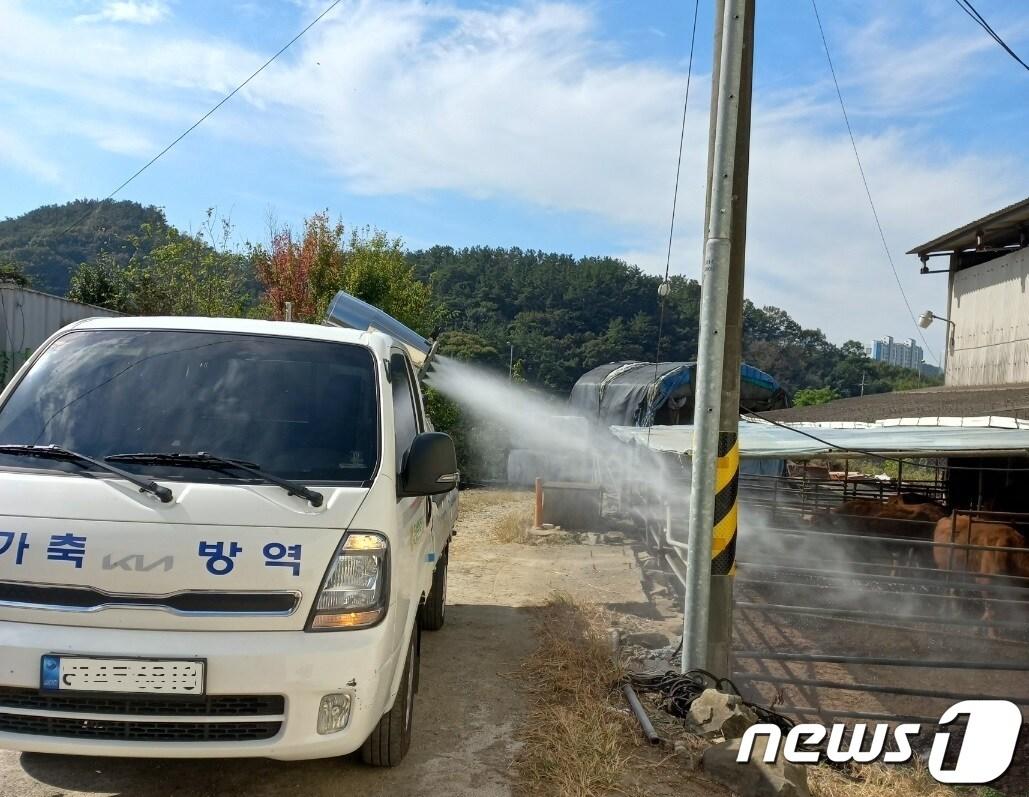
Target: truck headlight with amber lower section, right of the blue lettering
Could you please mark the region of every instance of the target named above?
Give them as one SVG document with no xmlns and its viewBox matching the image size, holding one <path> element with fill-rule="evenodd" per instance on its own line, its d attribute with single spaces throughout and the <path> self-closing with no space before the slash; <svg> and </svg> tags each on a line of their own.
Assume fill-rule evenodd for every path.
<svg viewBox="0 0 1029 797">
<path fill-rule="evenodd" d="M 315 599 L 308 630 L 375 625 L 389 602 L 389 542 L 374 532 L 350 532 L 335 552 Z"/>
</svg>

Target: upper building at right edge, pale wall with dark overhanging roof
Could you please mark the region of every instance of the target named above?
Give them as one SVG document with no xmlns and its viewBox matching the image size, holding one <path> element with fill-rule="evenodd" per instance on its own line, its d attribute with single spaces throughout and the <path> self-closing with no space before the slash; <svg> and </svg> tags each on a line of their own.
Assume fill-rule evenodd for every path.
<svg viewBox="0 0 1029 797">
<path fill-rule="evenodd" d="M 1029 197 L 912 249 L 923 275 L 946 274 L 949 387 L 1029 382 Z M 946 267 L 933 264 L 941 258 Z M 939 309 L 933 307 L 938 312 Z"/>
</svg>

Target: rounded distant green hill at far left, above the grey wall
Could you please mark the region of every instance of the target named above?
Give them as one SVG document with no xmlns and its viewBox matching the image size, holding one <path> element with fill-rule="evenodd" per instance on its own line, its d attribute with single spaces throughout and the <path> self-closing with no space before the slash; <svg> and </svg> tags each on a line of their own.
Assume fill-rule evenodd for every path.
<svg viewBox="0 0 1029 797">
<path fill-rule="evenodd" d="M 21 265 L 34 288 L 63 296 L 72 271 L 101 252 L 128 260 L 144 224 L 168 228 L 164 211 L 135 202 L 44 205 L 0 221 L 0 261 Z"/>
</svg>

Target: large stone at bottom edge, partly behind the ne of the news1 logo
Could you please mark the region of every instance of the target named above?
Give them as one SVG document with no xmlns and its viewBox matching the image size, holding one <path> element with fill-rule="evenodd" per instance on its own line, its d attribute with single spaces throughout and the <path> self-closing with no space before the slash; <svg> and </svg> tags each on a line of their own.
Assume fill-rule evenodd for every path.
<svg viewBox="0 0 1029 797">
<path fill-rule="evenodd" d="M 768 738 L 754 739 L 750 760 L 739 763 L 740 739 L 728 739 L 704 751 L 702 765 L 711 780 L 734 794 L 747 797 L 810 797 L 808 770 L 802 764 L 787 762 L 782 751 L 771 764 L 764 761 Z"/>
</svg>

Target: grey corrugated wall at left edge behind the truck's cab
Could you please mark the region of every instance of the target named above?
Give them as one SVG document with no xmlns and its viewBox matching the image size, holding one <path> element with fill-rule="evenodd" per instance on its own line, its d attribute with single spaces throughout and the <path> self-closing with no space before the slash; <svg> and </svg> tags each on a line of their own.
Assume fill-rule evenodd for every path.
<svg viewBox="0 0 1029 797">
<path fill-rule="evenodd" d="M 117 315 L 48 293 L 0 285 L 0 385 L 61 327 L 83 318 Z"/>
</svg>

